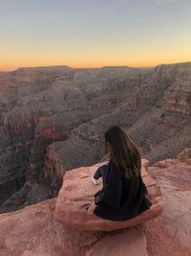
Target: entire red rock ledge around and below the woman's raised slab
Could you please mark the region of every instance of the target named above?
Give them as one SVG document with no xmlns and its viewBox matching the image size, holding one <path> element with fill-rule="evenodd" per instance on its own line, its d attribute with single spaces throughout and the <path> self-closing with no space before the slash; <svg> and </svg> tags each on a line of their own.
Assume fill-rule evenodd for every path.
<svg viewBox="0 0 191 256">
<path fill-rule="evenodd" d="M 159 217 L 128 229 L 79 231 L 53 218 L 56 198 L 48 199 L 0 215 L 0 255 L 191 255 L 190 152 L 187 149 L 177 159 L 166 159 L 148 168 L 162 195 Z"/>
</svg>

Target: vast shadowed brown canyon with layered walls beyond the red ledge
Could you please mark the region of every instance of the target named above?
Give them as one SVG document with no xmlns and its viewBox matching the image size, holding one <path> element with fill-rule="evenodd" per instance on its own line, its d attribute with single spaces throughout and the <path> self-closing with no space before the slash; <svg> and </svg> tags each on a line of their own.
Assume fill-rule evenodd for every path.
<svg viewBox="0 0 191 256">
<path fill-rule="evenodd" d="M 66 171 L 105 159 L 114 124 L 151 164 L 191 147 L 191 62 L 0 72 L 0 213 L 56 198 Z"/>
</svg>

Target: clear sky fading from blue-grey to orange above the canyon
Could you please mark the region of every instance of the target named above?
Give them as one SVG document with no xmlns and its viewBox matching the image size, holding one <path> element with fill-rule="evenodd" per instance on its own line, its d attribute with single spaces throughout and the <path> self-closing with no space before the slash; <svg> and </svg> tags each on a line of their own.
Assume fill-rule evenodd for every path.
<svg viewBox="0 0 191 256">
<path fill-rule="evenodd" d="M 0 70 L 191 61 L 191 0 L 0 0 Z"/>
</svg>

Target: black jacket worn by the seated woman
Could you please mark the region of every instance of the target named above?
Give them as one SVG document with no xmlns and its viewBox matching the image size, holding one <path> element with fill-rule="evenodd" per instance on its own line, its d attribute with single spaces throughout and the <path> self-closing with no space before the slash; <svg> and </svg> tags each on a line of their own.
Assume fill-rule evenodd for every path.
<svg viewBox="0 0 191 256">
<path fill-rule="evenodd" d="M 125 221 L 138 216 L 152 205 L 145 197 L 147 188 L 141 175 L 126 178 L 110 160 L 96 170 L 95 178 L 103 177 L 103 188 L 95 195 L 94 214 L 111 221 Z"/>
</svg>

